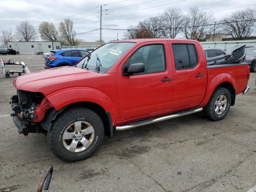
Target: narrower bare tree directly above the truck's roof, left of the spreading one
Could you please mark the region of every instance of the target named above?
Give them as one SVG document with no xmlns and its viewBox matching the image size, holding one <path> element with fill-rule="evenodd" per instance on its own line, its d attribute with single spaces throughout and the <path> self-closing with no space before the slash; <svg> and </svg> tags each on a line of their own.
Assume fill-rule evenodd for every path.
<svg viewBox="0 0 256 192">
<path fill-rule="evenodd" d="M 161 14 L 162 18 L 162 30 L 164 37 L 175 38 L 180 32 L 182 27 L 185 26 L 184 14 L 179 8 L 172 8 L 164 11 Z"/>
</svg>

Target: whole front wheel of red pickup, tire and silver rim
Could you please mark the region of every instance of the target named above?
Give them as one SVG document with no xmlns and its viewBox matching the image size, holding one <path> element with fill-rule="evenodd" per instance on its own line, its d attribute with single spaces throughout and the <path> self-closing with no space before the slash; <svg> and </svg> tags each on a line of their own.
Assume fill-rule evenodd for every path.
<svg viewBox="0 0 256 192">
<path fill-rule="evenodd" d="M 70 108 L 59 114 L 47 135 L 54 155 L 67 162 L 92 156 L 103 137 L 104 126 L 100 117 L 82 107 Z"/>
</svg>

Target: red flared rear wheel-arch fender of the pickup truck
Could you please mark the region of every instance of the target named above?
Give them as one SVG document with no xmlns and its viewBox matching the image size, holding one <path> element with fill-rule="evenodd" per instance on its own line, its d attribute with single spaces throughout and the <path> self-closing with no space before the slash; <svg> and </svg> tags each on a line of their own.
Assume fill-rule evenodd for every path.
<svg viewBox="0 0 256 192">
<path fill-rule="evenodd" d="M 236 80 L 232 75 L 228 73 L 218 74 L 208 83 L 204 100 L 201 102 L 200 106 L 206 106 L 208 104 L 214 90 L 223 82 L 229 82 L 236 90 Z"/>
</svg>

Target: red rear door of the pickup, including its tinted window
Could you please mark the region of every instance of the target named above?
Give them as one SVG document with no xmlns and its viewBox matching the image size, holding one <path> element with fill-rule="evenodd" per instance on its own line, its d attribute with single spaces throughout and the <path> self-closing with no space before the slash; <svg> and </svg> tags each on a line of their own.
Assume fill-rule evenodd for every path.
<svg viewBox="0 0 256 192">
<path fill-rule="evenodd" d="M 173 104 L 180 109 L 197 106 L 206 90 L 206 60 L 197 42 L 169 42 L 173 63 Z"/>
</svg>

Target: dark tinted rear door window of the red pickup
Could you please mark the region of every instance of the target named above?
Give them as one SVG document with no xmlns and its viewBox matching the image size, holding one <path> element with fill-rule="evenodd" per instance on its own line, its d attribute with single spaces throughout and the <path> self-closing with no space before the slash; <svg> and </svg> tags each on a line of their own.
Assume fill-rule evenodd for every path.
<svg viewBox="0 0 256 192">
<path fill-rule="evenodd" d="M 175 68 L 189 69 L 197 64 L 196 49 L 193 44 L 172 44 Z"/>
</svg>

